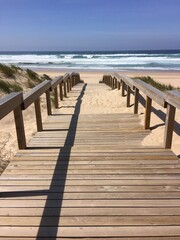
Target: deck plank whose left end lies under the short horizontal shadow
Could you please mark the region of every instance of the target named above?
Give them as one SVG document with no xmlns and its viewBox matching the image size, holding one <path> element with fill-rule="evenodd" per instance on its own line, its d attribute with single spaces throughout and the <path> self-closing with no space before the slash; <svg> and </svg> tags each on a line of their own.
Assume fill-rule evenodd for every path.
<svg viewBox="0 0 180 240">
<path fill-rule="evenodd" d="M 88 199 L 95 199 L 95 200 L 108 200 L 108 199 L 179 199 L 179 192 L 86 192 L 86 193 L 66 193 L 66 192 L 52 192 L 48 193 L 48 191 L 44 190 L 39 192 L 33 193 L 33 191 L 17 191 L 11 193 L 1 193 L 1 200 L 6 200 L 8 197 L 13 196 L 13 200 L 56 200 L 56 199 L 63 199 L 63 200 L 88 200 Z M 79 213 L 80 214 L 80 213 Z"/>
</svg>

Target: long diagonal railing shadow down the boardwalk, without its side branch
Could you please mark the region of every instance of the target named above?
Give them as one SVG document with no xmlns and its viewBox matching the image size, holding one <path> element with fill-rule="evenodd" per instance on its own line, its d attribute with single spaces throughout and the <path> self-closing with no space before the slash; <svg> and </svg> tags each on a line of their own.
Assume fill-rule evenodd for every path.
<svg viewBox="0 0 180 240">
<path fill-rule="evenodd" d="M 54 170 L 52 181 L 51 181 L 50 188 L 49 188 L 49 193 L 47 195 L 46 204 L 45 204 L 44 211 L 43 211 L 43 214 L 41 217 L 41 222 L 40 222 L 38 233 L 37 233 L 37 239 L 40 237 L 45 237 L 45 236 L 51 237 L 51 239 L 56 239 L 56 236 L 57 236 L 58 225 L 59 225 L 59 220 L 60 220 L 60 215 L 61 215 L 63 194 L 64 194 L 64 190 L 65 190 L 65 183 L 66 183 L 68 165 L 69 165 L 70 154 L 71 154 L 71 147 L 74 145 L 74 141 L 75 141 L 75 135 L 76 135 L 78 118 L 79 118 L 79 113 L 80 113 L 80 108 L 81 108 L 81 103 L 82 103 L 82 97 L 84 95 L 85 89 L 86 89 L 86 84 L 84 85 L 82 92 L 77 99 L 75 111 L 71 118 L 70 127 L 69 127 L 69 131 L 68 131 L 68 134 L 67 134 L 67 137 L 65 140 L 64 148 L 60 149 L 60 152 L 59 152 L 58 161 L 55 166 L 55 170 Z M 68 147 L 66 147 L 66 146 L 68 146 Z M 61 160 L 63 159 L 63 155 L 66 156 L 66 164 L 64 164 L 64 161 L 63 161 L 63 164 L 61 163 Z M 63 173 L 63 175 L 62 175 L 63 177 L 61 180 L 58 181 L 58 185 L 57 185 L 56 175 L 62 174 L 62 173 Z M 53 189 L 55 186 L 56 186 L 56 200 L 53 201 L 53 203 L 52 203 L 51 194 L 53 193 Z M 58 191 L 58 188 L 59 188 L 59 191 Z M 53 224 L 51 223 L 49 226 L 47 226 L 46 217 L 48 217 L 49 209 L 52 207 L 56 208 L 56 216 L 54 216 L 54 218 L 53 218 Z M 44 226 L 46 226 L 46 228 Z M 48 227 L 48 230 L 47 230 L 47 227 Z M 48 234 L 48 236 L 47 236 L 47 234 Z"/>
</svg>

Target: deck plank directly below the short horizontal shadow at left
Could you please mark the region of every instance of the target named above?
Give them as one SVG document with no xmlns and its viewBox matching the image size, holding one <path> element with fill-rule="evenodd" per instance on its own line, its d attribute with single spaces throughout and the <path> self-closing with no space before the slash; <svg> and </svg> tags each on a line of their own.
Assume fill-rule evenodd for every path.
<svg viewBox="0 0 180 240">
<path fill-rule="evenodd" d="M 1 207 L 45 207 L 46 200 L 1 200 Z M 180 199 L 91 199 L 91 200 L 63 200 L 60 203 L 60 199 L 48 200 L 48 207 L 180 207 Z"/>
</svg>

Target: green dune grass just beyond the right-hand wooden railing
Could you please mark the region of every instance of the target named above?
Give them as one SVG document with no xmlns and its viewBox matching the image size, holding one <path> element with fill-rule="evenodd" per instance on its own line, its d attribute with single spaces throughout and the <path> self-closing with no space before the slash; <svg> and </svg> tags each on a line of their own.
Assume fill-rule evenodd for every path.
<svg viewBox="0 0 180 240">
<path fill-rule="evenodd" d="M 153 87 L 155 87 L 155 88 L 157 88 L 161 91 L 167 91 L 167 90 L 174 90 L 175 89 L 171 84 L 169 84 L 169 85 L 161 84 L 159 82 L 154 81 L 154 79 L 149 77 L 149 76 L 147 76 L 147 77 L 145 77 L 145 76 L 133 77 L 133 79 L 140 79 L 143 82 L 146 82 L 146 83 L 150 84 L 151 86 L 153 86 Z"/>
</svg>

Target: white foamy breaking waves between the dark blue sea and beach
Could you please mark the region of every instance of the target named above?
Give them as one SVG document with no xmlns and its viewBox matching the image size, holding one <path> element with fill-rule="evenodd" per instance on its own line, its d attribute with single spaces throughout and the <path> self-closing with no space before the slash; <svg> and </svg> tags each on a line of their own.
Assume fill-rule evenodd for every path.
<svg viewBox="0 0 180 240">
<path fill-rule="evenodd" d="M 38 68 L 180 69 L 180 54 L 0 54 L 0 63 Z"/>
</svg>

